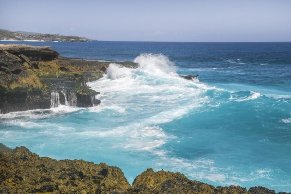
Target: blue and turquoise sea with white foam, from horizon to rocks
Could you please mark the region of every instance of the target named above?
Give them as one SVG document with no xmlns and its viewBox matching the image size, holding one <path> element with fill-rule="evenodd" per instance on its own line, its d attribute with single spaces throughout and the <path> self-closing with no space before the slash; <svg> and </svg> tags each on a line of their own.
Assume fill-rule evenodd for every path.
<svg viewBox="0 0 291 194">
<path fill-rule="evenodd" d="M 0 142 L 40 156 L 291 192 L 291 42 L 1 42 L 114 62 L 92 108 L 0 114 Z M 186 80 L 179 75 L 196 75 Z"/>
</svg>

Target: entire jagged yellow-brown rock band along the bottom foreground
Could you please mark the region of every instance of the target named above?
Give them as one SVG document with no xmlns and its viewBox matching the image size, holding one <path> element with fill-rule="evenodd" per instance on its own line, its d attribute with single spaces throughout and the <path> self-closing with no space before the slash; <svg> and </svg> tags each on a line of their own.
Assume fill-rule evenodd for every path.
<svg viewBox="0 0 291 194">
<path fill-rule="evenodd" d="M 154 172 L 151 168 L 137 176 L 131 186 L 118 167 L 83 160 L 57 161 L 39 157 L 23 146 L 10 149 L 0 143 L 0 193 L 275 194 L 275 191 L 264 187 L 248 191 L 240 186 L 214 187 L 189 180 L 181 173 Z"/>
</svg>

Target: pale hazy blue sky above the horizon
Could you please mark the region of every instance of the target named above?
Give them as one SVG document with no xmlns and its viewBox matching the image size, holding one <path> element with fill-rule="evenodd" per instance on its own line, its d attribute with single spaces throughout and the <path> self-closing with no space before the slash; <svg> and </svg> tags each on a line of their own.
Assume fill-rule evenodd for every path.
<svg viewBox="0 0 291 194">
<path fill-rule="evenodd" d="M 291 0 L 0 0 L 0 29 L 102 41 L 291 41 Z"/>
</svg>

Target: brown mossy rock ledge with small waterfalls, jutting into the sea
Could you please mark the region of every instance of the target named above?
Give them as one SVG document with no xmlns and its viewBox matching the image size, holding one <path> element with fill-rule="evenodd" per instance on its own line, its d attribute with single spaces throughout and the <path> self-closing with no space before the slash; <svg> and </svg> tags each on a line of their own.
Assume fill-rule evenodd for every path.
<svg viewBox="0 0 291 194">
<path fill-rule="evenodd" d="M 136 68 L 136 63 L 120 62 Z M 0 113 L 47 109 L 60 104 L 92 107 L 100 103 L 86 86 L 102 77 L 109 63 L 69 59 L 51 47 L 0 44 Z"/>
</svg>

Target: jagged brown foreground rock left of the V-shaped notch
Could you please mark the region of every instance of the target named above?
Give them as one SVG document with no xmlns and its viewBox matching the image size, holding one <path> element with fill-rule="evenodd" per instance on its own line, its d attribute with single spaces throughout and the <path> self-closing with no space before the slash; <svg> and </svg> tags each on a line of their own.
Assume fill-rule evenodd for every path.
<svg viewBox="0 0 291 194">
<path fill-rule="evenodd" d="M 39 157 L 0 144 L 0 193 L 124 193 L 123 172 L 104 163 Z"/>
</svg>

